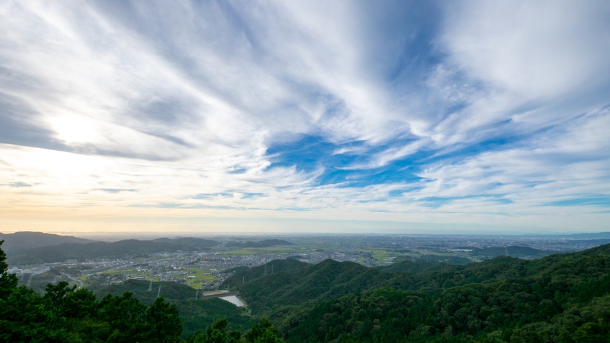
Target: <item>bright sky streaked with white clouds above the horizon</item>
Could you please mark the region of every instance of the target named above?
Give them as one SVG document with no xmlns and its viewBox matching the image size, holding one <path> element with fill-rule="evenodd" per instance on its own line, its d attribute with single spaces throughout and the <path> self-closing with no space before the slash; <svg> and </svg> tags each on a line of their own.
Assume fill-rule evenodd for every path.
<svg viewBox="0 0 610 343">
<path fill-rule="evenodd" d="M 610 231 L 609 1 L 2 1 L 0 230 Z"/>
</svg>

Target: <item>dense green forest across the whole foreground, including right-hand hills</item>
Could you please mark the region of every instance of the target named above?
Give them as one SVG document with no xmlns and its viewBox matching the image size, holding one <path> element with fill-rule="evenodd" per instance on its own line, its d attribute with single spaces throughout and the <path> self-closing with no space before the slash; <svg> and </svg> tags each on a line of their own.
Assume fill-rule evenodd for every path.
<svg viewBox="0 0 610 343">
<path fill-rule="evenodd" d="M 128 282 L 97 298 L 65 283 L 39 295 L 16 287 L 4 260 L 6 342 L 610 342 L 610 245 L 464 265 L 275 260 L 267 275 L 240 267 L 225 280 L 247 313 L 222 300 L 181 306 Z"/>
</svg>

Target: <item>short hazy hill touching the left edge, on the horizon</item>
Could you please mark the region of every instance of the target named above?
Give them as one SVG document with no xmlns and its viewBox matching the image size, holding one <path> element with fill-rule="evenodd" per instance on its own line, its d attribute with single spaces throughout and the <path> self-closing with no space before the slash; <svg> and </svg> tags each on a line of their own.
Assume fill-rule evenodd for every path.
<svg viewBox="0 0 610 343">
<path fill-rule="evenodd" d="M 10 254 L 13 251 L 60 245 L 63 243 L 90 243 L 92 240 L 72 236 L 60 236 L 51 233 L 20 231 L 15 233 L 0 233 L 0 240 L 4 240 L 2 249 Z"/>
</svg>

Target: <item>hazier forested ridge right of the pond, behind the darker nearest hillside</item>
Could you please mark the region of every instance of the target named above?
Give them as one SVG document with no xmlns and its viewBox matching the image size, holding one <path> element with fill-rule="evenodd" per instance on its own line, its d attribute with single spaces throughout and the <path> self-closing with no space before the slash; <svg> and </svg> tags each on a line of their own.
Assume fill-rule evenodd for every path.
<svg viewBox="0 0 610 343">
<path fill-rule="evenodd" d="M 462 266 L 405 261 L 391 269 L 398 271 L 387 272 L 354 262 L 325 260 L 311 265 L 296 260 L 274 260 L 267 263 L 267 276 L 263 275 L 264 266 L 254 267 L 234 273 L 221 287 L 239 291 L 252 309 L 267 311 L 283 304 L 329 300 L 375 287 L 433 294 L 460 284 L 527 276 L 535 265 L 518 258 L 500 256 Z"/>
</svg>

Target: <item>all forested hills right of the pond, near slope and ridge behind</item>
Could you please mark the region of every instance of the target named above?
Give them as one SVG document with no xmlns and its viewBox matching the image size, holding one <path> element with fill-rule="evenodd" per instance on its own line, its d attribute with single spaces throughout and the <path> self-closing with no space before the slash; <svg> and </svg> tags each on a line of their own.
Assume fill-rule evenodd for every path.
<svg viewBox="0 0 610 343">
<path fill-rule="evenodd" d="M 289 342 L 607 342 L 610 245 L 531 261 L 409 263 L 388 273 L 327 260 L 267 276 L 261 266 L 225 284 Z"/>
</svg>

